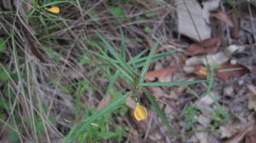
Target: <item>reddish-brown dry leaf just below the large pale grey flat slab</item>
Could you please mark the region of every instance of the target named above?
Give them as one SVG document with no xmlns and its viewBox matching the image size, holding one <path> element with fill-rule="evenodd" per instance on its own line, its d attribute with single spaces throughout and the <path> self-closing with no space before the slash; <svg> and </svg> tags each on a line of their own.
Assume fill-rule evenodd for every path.
<svg viewBox="0 0 256 143">
<path fill-rule="evenodd" d="M 190 45 L 189 49 L 185 50 L 185 54 L 195 55 L 202 53 L 214 53 L 217 51 L 218 46 L 221 43 L 220 37 L 211 37 L 204 40 L 202 43 L 193 43 Z M 201 47 L 201 45 L 203 47 Z"/>
</svg>

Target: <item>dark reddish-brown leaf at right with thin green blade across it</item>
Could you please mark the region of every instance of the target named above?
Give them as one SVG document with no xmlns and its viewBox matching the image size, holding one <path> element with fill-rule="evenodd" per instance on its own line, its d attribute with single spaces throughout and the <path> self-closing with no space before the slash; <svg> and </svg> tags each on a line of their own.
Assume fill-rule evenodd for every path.
<svg viewBox="0 0 256 143">
<path fill-rule="evenodd" d="M 229 72 L 218 72 L 217 75 L 220 79 L 229 79 L 230 77 L 241 77 L 250 71 L 245 66 L 241 66 L 239 64 L 231 65 L 229 62 L 224 63 L 220 66 L 218 70 L 224 70 L 224 69 L 232 69 L 232 68 L 241 68 L 240 70 L 234 70 Z"/>
</svg>

